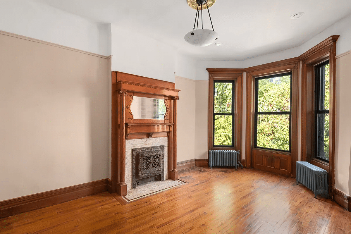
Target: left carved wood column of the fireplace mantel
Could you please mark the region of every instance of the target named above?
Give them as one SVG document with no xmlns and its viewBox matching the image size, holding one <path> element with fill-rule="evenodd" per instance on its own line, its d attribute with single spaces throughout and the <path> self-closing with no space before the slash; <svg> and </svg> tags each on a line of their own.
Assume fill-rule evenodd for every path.
<svg viewBox="0 0 351 234">
<path fill-rule="evenodd" d="M 119 183 L 117 185 L 117 193 L 121 196 L 127 195 L 127 184 L 126 184 L 126 138 L 125 136 L 125 108 L 126 108 L 126 91 L 119 91 L 120 110 L 118 118 L 120 119 L 119 129 Z"/>
</svg>

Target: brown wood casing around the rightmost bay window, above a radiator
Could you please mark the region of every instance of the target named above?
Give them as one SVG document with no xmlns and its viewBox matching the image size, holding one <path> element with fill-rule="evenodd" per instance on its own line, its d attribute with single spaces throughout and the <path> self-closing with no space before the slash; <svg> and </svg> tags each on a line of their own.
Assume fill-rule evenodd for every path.
<svg viewBox="0 0 351 234">
<path fill-rule="evenodd" d="M 301 161 L 307 161 L 328 172 L 329 193 L 335 186 L 335 128 L 336 128 L 336 41 L 339 35 L 333 35 L 299 56 L 302 61 L 301 74 Z M 315 105 L 316 105 L 316 69 L 315 66 L 329 60 L 329 162 L 314 157 Z"/>
</svg>

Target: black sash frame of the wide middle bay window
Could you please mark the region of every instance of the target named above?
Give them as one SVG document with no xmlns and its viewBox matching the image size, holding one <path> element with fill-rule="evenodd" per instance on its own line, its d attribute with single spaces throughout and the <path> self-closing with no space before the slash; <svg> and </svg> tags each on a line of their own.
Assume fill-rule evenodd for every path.
<svg viewBox="0 0 351 234">
<path fill-rule="evenodd" d="M 258 112 L 258 81 L 263 79 L 270 79 L 274 77 L 286 76 L 290 75 L 290 111 L 279 111 L 279 112 Z M 292 72 L 285 72 L 285 73 L 278 73 L 274 75 L 267 75 L 267 76 L 260 76 L 255 78 L 255 110 L 254 110 L 254 147 L 259 149 L 269 149 L 274 151 L 280 152 L 288 152 L 291 153 L 291 101 L 292 100 Z M 257 146 L 257 118 L 258 115 L 272 115 L 272 114 L 280 114 L 280 115 L 287 115 L 289 114 L 289 150 L 284 149 L 274 149 L 274 148 L 267 148 L 267 147 L 260 147 Z"/>
</svg>

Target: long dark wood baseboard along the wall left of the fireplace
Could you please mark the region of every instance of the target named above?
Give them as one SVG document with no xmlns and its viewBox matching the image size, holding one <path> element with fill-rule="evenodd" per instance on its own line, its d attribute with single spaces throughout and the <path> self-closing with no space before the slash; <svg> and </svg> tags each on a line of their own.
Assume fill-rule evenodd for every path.
<svg viewBox="0 0 351 234">
<path fill-rule="evenodd" d="M 102 179 L 66 188 L 22 196 L 20 198 L 0 201 L 0 218 L 102 193 L 108 190 L 108 185 L 109 179 Z"/>
</svg>

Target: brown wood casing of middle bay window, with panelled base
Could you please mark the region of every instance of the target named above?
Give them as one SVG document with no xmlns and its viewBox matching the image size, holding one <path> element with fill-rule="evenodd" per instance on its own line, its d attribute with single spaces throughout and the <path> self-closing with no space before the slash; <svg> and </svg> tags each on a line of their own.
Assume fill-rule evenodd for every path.
<svg viewBox="0 0 351 234">
<path fill-rule="evenodd" d="M 299 59 L 292 58 L 278 62 L 246 68 L 246 167 L 295 176 L 297 160 L 298 126 L 298 75 Z M 254 146 L 255 81 L 261 76 L 291 72 L 291 146 L 290 152 L 262 149 Z"/>
</svg>

